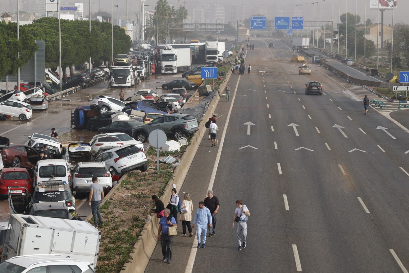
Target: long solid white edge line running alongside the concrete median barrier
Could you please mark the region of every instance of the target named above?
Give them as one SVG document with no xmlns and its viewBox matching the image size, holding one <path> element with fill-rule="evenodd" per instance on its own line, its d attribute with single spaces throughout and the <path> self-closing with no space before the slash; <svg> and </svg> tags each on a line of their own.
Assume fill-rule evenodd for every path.
<svg viewBox="0 0 409 273">
<path fill-rule="evenodd" d="M 217 172 L 217 168 L 218 168 L 219 162 L 220 162 L 220 157 L 221 157 L 221 154 L 222 154 L 223 143 L 225 142 L 227 126 L 229 125 L 231 110 L 233 110 L 234 99 L 236 98 L 235 95 L 237 93 L 237 88 L 238 88 L 238 83 L 239 82 L 240 82 L 240 76 L 238 77 L 238 80 L 237 80 L 237 83 L 236 83 L 236 88 L 234 88 L 233 100 L 231 101 L 231 105 L 229 107 L 229 112 L 227 113 L 227 119 L 226 119 L 226 123 L 225 123 L 226 125 L 223 128 L 222 137 L 220 138 L 220 146 L 219 146 L 219 149 L 217 151 L 216 160 L 215 160 L 214 165 L 213 165 L 213 170 L 211 172 L 209 186 L 207 187 L 209 190 L 211 190 L 213 188 L 214 180 L 216 178 L 216 172 Z M 192 245 L 192 248 L 191 248 L 191 251 L 190 251 L 190 254 L 189 254 L 189 259 L 187 261 L 187 265 L 186 265 L 186 268 L 184 270 L 185 273 L 191 273 L 193 271 L 193 264 L 195 263 L 196 252 L 198 251 L 197 245 L 198 245 L 198 240 L 197 240 L 197 237 L 195 236 L 195 238 L 193 239 L 193 245 Z"/>
</svg>

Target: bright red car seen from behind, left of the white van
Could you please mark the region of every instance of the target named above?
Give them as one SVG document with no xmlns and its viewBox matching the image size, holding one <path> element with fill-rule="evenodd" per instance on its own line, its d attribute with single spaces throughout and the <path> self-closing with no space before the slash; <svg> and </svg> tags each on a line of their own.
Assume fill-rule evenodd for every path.
<svg viewBox="0 0 409 273">
<path fill-rule="evenodd" d="M 13 188 L 11 194 L 21 194 L 24 187 L 32 194 L 34 192 L 33 181 L 27 169 L 24 168 L 3 168 L 0 170 L 0 196 L 7 197 L 7 187 L 18 186 L 22 188 Z"/>
</svg>

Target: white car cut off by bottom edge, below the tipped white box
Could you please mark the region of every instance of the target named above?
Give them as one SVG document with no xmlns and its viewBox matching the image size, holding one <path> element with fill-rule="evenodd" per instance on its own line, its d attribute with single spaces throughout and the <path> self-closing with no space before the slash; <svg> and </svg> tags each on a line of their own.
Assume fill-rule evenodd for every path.
<svg viewBox="0 0 409 273">
<path fill-rule="evenodd" d="M 22 255 L 7 259 L 0 264 L 0 272 L 3 273 L 94 273 L 90 262 L 65 257 L 59 254 Z M 46 269 L 47 268 L 47 269 Z M 74 268 L 74 269 L 72 269 Z"/>
</svg>

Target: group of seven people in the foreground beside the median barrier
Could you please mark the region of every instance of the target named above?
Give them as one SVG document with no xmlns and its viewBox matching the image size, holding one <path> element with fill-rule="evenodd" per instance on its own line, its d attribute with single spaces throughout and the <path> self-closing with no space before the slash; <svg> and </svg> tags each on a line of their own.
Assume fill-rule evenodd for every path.
<svg viewBox="0 0 409 273">
<path fill-rule="evenodd" d="M 157 214 L 160 218 L 157 239 L 161 243 L 163 261 L 171 264 L 172 261 L 172 245 L 173 236 L 169 235 L 169 227 L 177 227 L 177 215 L 180 210 L 180 221 L 182 221 L 181 237 L 193 236 L 192 229 L 196 227 L 196 235 L 198 240 L 198 248 L 206 248 L 207 237 L 216 235 L 217 213 L 220 209 L 219 199 L 213 195 L 212 190 L 207 191 L 207 197 L 204 201 L 199 202 L 199 208 L 195 212 L 193 225 L 191 226 L 193 201 L 190 199 L 189 193 L 184 193 L 184 199 L 180 200 L 176 194 L 177 190 L 172 189 L 171 200 L 169 205 L 164 207 L 164 203 L 156 196 L 152 196 L 155 202 L 155 208 L 151 211 Z M 242 250 L 246 247 L 247 239 L 247 217 L 250 212 L 246 205 L 239 199 L 236 201 L 236 209 L 234 210 L 234 218 L 232 227 L 236 227 L 236 237 L 238 241 L 237 250 Z M 209 228 L 209 235 L 207 235 L 207 228 Z"/>
</svg>

